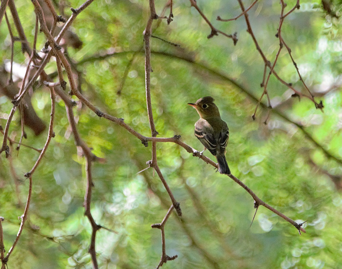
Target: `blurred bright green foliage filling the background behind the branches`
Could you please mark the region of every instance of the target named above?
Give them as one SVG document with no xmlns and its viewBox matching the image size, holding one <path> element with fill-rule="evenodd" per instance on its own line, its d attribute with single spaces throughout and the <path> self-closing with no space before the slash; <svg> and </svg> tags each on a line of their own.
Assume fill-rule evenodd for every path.
<svg viewBox="0 0 342 269">
<path fill-rule="evenodd" d="M 69 16 L 69 8 L 82 3 L 67 1 L 65 14 Z M 295 3 L 287 1 L 286 10 Z M 164 4 L 156 2 L 157 14 Z M 163 268 L 342 267 L 342 196 L 338 189 L 342 187 L 341 161 L 328 158 L 301 129 L 275 112 L 271 111 L 266 125 L 263 122 L 267 110 L 259 109 L 257 120 L 252 121 L 255 100 L 210 72 L 226 74 L 256 98 L 262 93 L 264 65 L 246 32 L 244 18 L 229 23 L 216 21 L 218 15 L 222 18 L 238 15 L 238 2 L 198 0 L 197 4 L 215 27 L 228 34 L 238 32 L 239 41 L 233 46 L 231 40 L 221 35 L 207 39 L 210 28 L 185 0 L 174 1 L 174 18 L 169 26 L 166 20 L 154 22 L 155 36 L 181 45 L 175 48 L 152 39 L 155 53 L 152 53 L 151 83 L 156 129 L 160 137 L 178 134 L 185 143 L 202 150 L 193 135 L 198 115 L 186 103 L 213 96 L 231 134 L 226 157 L 232 173 L 280 212 L 297 222 L 307 220 L 304 225 L 307 233 L 299 236 L 292 225 L 262 207 L 249 228 L 254 209 L 253 200 L 245 190 L 180 146 L 159 143 L 158 164 L 183 211 L 182 218 L 173 214 L 166 224 L 167 254 L 178 258 Z M 16 1 L 16 6 L 31 42 L 33 7 L 24 1 Z M 333 1 L 332 8 L 339 12 L 341 3 Z M 270 0 L 259 1 L 249 12 L 255 37 L 271 61 L 279 46 L 275 37 L 279 15 L 279 2 Z M 68 49 L 82 75 L 82 93 L 100 110 L 124 118 L 145 136 L 150 136 L 150 129 L 144 55 L 134 52 L 142 49 L 142 32 L 148 16 L 148 1 L 94 1 L 73 24 L 73 30 L 83 41 L 82 49 Z M 320 2 L 303 1 L 301 9 L 285 19 L 282 37 L 292 50 L 303 80 L 318 96 L 317 101 L 323 100 L 325 108 L 323 113 L 307 99 L 298 102 L 297 98 L 290 98 L 292 92 L 274 76 L 268 85 L 272 105 L 282 115 L 303 125 L 319 145 L 341 160 L 341 19 L 327 14 Z M 11 51 L 4 20 L 0 40 L 0 57 L 4 61 L 10 58 Z M 45 42 L 42 33 L 38 40 L 37 48 L 42 48 Z M 15 62 L 25 64 L 18 42 L 14 49 Z M 92 58 L 111 52 L 117 54 Z M 118 95 L 127 66 L 128 75 Z M 280 54 L 275 69 L 296 89 L 305 91 L 286 50 Z M 54 63 L 46 70 L 55 72 Z M 48 123 L 49 91 L 35 88 L 32 104 L 39 117 Z M 2 126 L 11 107 L 8 98 L 0 97 Z M 81 137 L 96 156 L 106 159 L 105 164 L 93 165 L 92 214 L 98 224 L 115 233 L 106 229 L 97 232 L 100 267 L 155 268 L 161 256 L 161 237 L 160 231 L 150 225 L 163 219 L 171 202 L 152 169 L 137 174 L 151 158 L 150 145 L 145 148 L 122 127 L 98 118 L 85 106 L 78 105 L 74 113 Z M 26 132 L 25 144 L 43 147 L 47 131 L 38 137 L 31 130 Z M 33 177 L 29 219 L 10 257 L 9 268 L 91 268 L 88 254 L 91 227 L 82 207 L 86 186 L 84 159 L 77 153 L 60 98 L 57 98 L 54 132 L 56 136 Z M 15 140 L 20 136 L 18 113 L 10 135 Z M 15 147 L 11 150 L 19 179 L 18 191 L 9 160 L 3 153 L 0 159 L 0 215 L 5 218 L 2 226 L 6 250 L 16 236 L 18 216 L 23 214 L 26 202 L 28 180 L 23 175 L 39 155 L 23 146 L 19 152 Z M 205 154 L 213 158 L 208 152 Z"/>
</svg>

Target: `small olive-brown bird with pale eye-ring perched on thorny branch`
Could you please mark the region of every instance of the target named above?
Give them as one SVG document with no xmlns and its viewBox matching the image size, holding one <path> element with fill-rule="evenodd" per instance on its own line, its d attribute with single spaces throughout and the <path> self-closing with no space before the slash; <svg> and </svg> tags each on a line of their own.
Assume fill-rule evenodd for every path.
<svg viewBox="0 0 342 269">
<path fill-rule="evenodd" d="M 198 99 L 196 103 L 188 103 L 197 110 L 200 117 L 195 123 L 195 136 L 205 147 L 204 150 L 208 149 L 216 157 L 219 172 L 230 175 L 225 157 L 229 130 L 227 124 L 221 120 L 219 109 L 213 101 L 214 98 L 206 96 Z"/>
</svg>

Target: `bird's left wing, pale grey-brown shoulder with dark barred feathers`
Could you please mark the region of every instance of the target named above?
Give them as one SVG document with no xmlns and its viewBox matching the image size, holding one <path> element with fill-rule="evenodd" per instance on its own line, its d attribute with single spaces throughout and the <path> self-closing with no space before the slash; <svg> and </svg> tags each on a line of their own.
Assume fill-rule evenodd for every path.
<svg viewBox="0 0 342 269">
<path fill-rule="evenodd" d="M 195 124 L 195 136 L 213 155 L 216 154 L 217 141 L 213 136 L 213 129 L 206 120 L 199 120 Z"/>
</svg>

